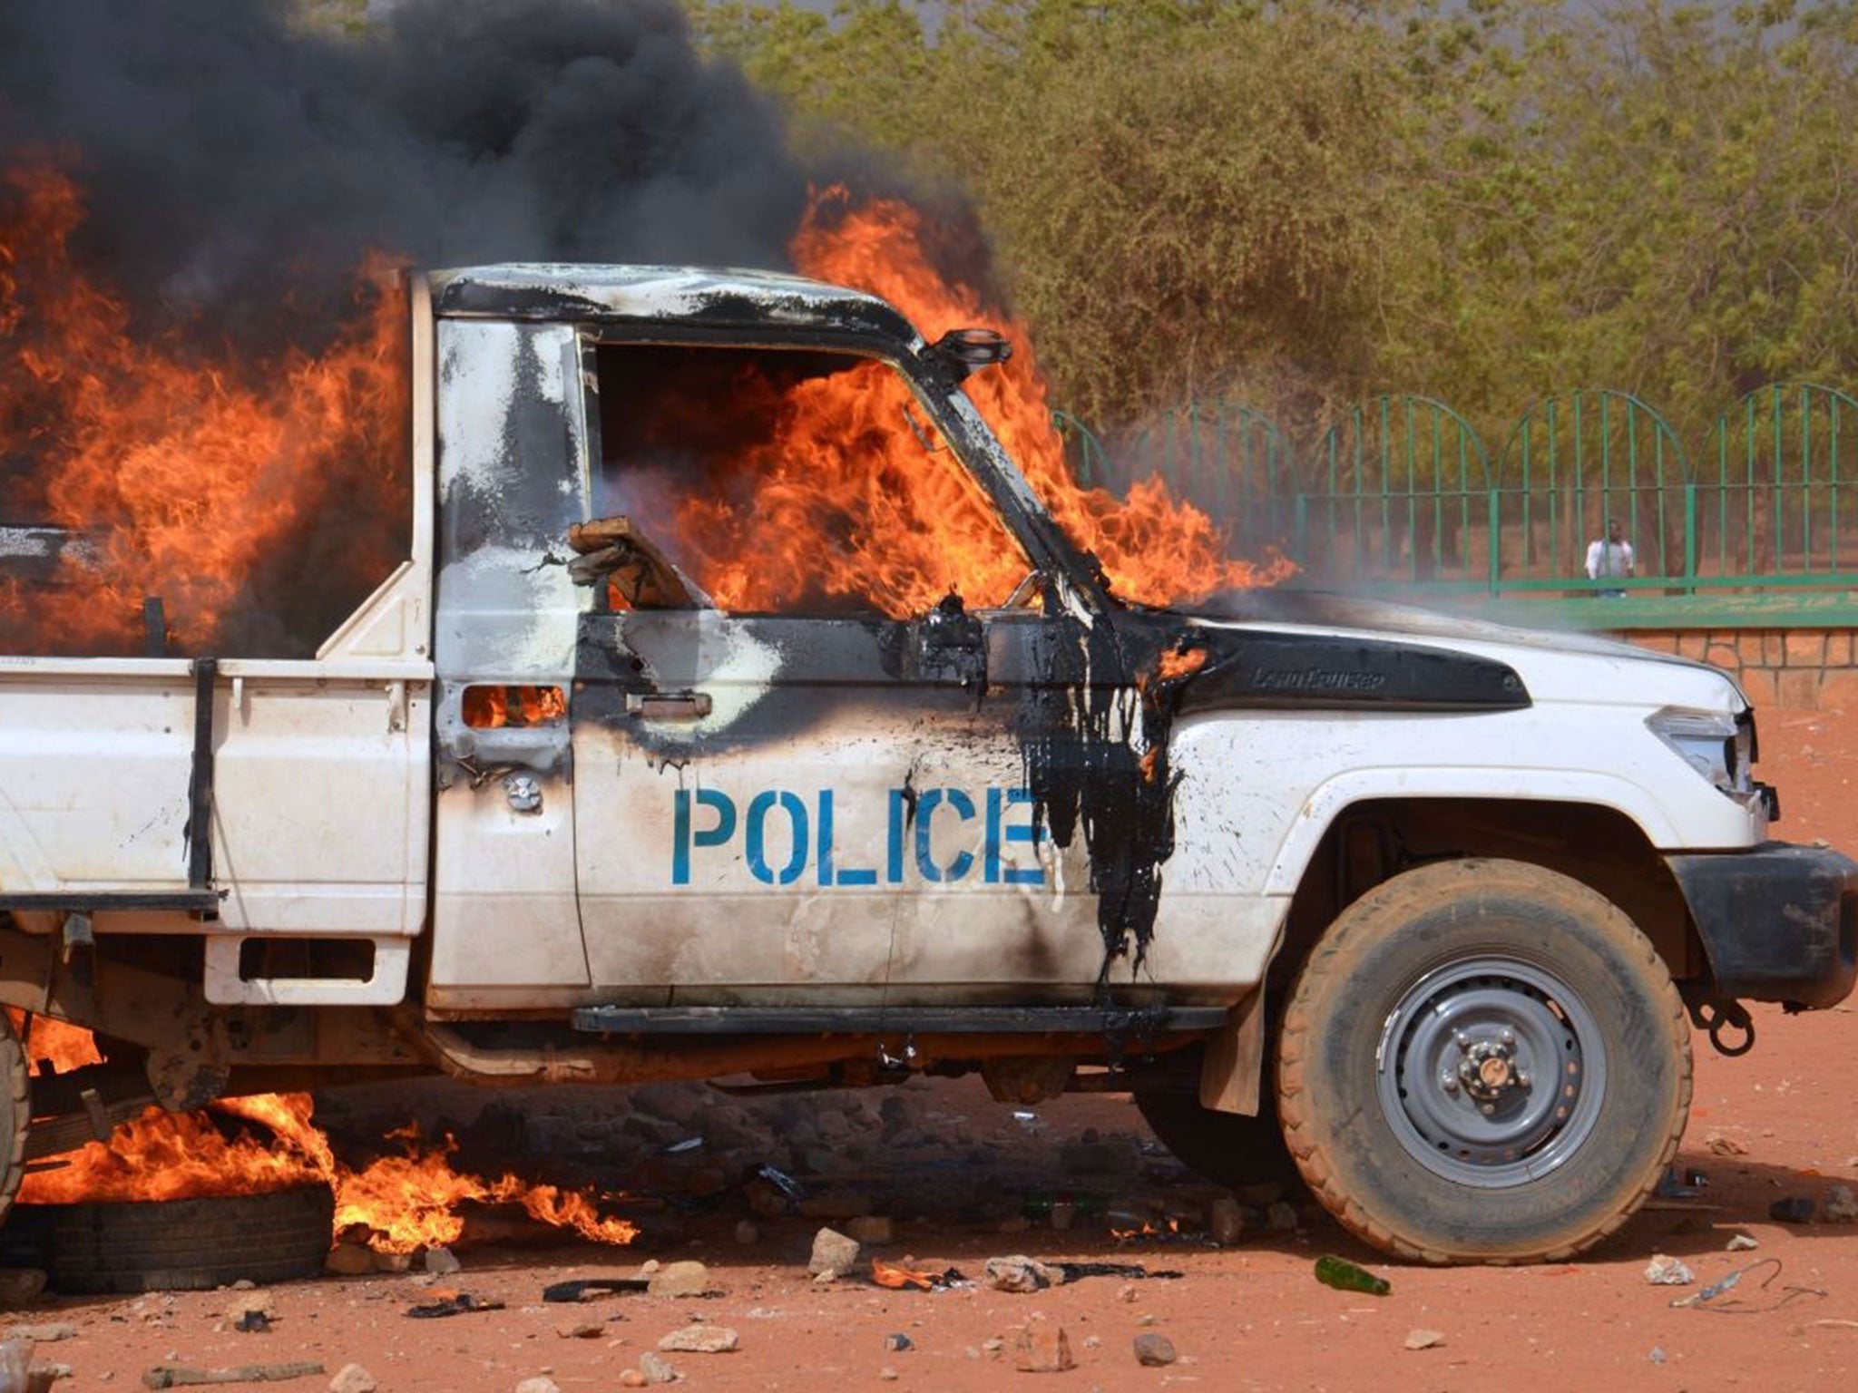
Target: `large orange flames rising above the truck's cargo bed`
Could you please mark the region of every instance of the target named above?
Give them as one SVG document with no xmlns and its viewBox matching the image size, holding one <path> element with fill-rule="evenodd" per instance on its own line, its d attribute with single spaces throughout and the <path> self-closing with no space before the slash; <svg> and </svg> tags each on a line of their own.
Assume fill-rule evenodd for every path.
<svg viewBox="0 0 1858 1393">
<path fill-rule="evenodd" d="M 333 500 L 359 598 L 407 507 L 405 319 L 377 293 L 386 267 L 368 267 L 353 321 L 314 357 L 203 357 L 128 336 L 124 305 L 71 262 L 82 221 L 82 195 L 50 165 L 0 173 L 0 457 L 35 464 L 33 492 L 6 503 L 89 544 L 30 596 L 0 579 L 0 650 L 132 652 L 145 596 L 184 646 L 212 646 L 253 574 Z M 357 520 L 353 490 L 381 507 Z"/>
</svg>

